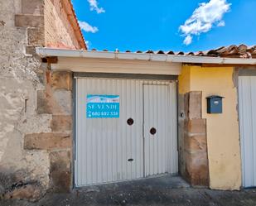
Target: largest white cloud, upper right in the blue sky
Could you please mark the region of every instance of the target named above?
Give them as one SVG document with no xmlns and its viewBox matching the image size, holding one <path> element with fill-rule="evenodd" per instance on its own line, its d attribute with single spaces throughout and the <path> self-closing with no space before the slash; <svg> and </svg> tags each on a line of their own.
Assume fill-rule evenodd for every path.
<svg viewBox="0 0 256 206">
<path fill-rule="evenodd" d="M 200 3 L 192 16 L 181 25 L 179 30 L 186 36 L 184 44 L 190 45 L 192 36 L 199 36 L 201 33 L 210 31 L 213 26 L 225 26 L 222 20 L 224 14 L 229 12 L 231 3 L 226 0 L 210 0 Z"/>
</svg>

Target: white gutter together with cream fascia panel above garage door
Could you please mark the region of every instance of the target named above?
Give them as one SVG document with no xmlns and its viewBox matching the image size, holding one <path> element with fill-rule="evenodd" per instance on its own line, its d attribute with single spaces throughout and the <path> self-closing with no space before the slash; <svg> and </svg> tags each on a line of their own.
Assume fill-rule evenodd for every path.
<svg viewBox="0 0 256 206">
<path fill-rule="evenodd" d="M 220 58 L 188 55 L 159 55 L 109 51 L 36 48 L 41 58 L 57 57 L 53 70 L 119 74 L 181 74 L 182 64 L 256 65 L 256 59 Z M 55 60 L 56 58 L 54 58 Z"/>
</svg>

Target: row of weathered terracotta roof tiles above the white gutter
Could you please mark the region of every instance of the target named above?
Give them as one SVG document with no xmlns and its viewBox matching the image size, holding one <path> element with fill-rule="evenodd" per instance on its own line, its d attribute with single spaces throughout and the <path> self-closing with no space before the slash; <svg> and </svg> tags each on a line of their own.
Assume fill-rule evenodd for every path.
<svg viewBox="0 0 256 206">
<path fill-rule="evenodd" d="M 96 49 L 92 49 L 96 50 Z M 102 50 L 102 51 L 109 51 L 109 50 Z M 115 52 L 119 52 L 119 50 L 115 50 Z M 197 51 L 197 52 L 183 52 L 178 51 L 175 52 L 173 50 L 126 50 L 125 53 L 143 53 L 143 54 L 157 54 L 157 55 L 191 55 L 191 56 L 212 56 L 212 57 L 227 57 L 227 58 L 256 58 L 256 46 L 246 46 L 246 45 L 240 45 L 240 46 L 221 46 L 220 48 L 217 48 L 215 50 L 206 50 L 206 51 Z"/>
</svg>

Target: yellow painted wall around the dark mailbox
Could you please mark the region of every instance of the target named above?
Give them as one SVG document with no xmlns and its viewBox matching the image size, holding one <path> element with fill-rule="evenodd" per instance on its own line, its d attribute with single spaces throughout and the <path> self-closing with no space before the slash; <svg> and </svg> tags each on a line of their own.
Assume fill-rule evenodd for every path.
<svg viewBox="0 0 256 206">
<path fill-rule="evenodd" d="M 202 91 L 202 118 L 206 118 L 211 189 L 239 189 L 241 160 L 239 146 L 238 96 L 233 67 L 183 66 L 179 78 L 181 93 Z M 186 77 L 189 75 L 189 77 Z M 187 82 L 188 81 L 188 82 Z M 206 112 L 206 97 L 220 95 L 222 114 Z"/>
</svg>

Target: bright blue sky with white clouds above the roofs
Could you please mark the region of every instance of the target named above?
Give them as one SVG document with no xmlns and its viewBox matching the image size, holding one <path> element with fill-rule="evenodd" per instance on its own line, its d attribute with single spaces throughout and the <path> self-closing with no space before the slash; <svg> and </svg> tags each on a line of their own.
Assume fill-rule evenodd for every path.
<svg viewBox="0 0 256 206">
<path fill-rule="evenodd" d="M 197 51 L 256 45 L 256 0 L 72 2 L 89 50 Z"/>
</svg>

